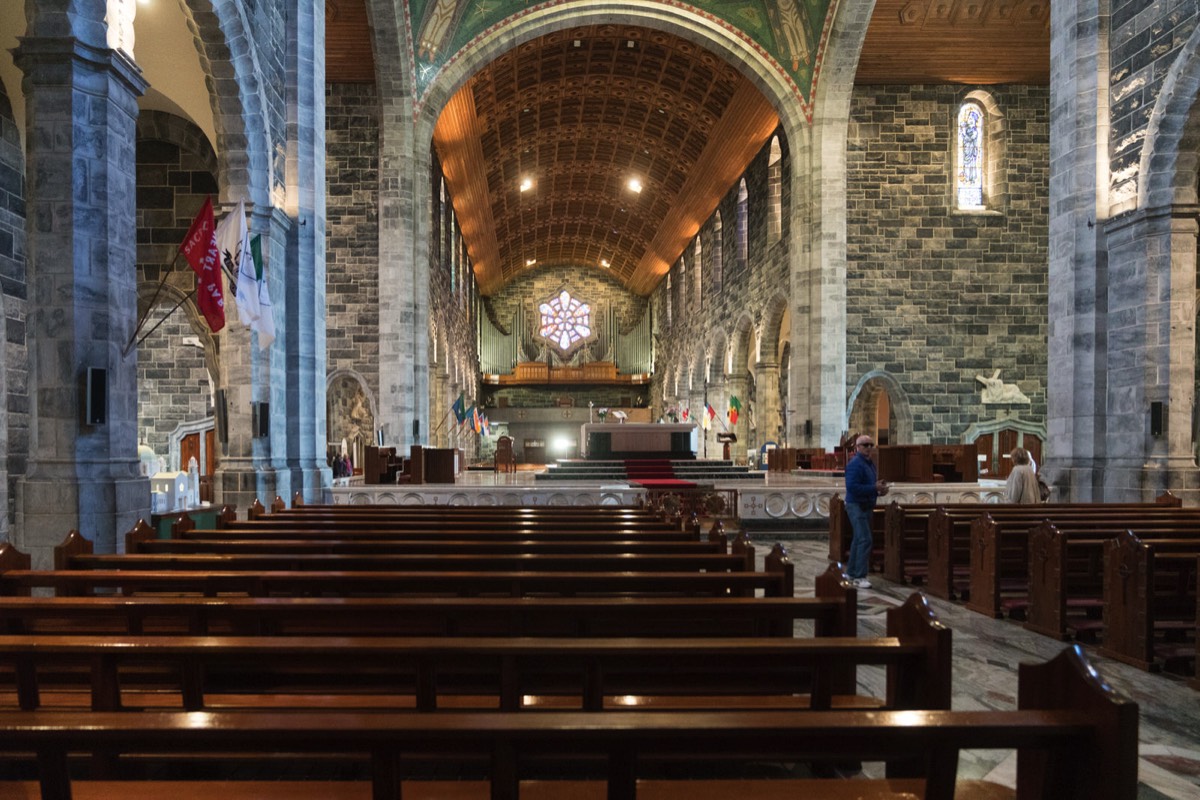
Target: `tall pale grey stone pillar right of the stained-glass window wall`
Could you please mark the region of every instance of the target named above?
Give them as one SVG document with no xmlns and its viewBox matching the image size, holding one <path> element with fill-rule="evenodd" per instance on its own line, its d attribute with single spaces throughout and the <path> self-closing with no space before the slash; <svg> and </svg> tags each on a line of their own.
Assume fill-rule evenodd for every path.
<svg viewBox="0 0 1200 800">
<path fill-rule="evenodd" d="M 1048 447 L 1039 469 L 1056 497 L 1074 501 L 1115 499 L 1103 495 L 1108 52 L 1098 0 L 1051 4 Z"/>
</svg>

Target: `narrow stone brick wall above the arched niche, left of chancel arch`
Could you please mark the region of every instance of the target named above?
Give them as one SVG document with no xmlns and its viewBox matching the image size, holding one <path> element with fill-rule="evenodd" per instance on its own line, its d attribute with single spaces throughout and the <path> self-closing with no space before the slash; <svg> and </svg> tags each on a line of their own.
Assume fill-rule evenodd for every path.
<svg viewBox="0 0 1200 800">
<path fill-rule="evenodd" d="M 371 84 L 325 90 L 325 348 L 328 373 L 362 375 L 379 395 L 379 121 Z"/>
</svg>

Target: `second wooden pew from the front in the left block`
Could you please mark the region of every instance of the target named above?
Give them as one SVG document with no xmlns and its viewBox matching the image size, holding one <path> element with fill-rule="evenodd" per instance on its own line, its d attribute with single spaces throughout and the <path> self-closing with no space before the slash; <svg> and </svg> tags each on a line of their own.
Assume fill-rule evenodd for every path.
<svg viewBox="0 0 1200 800">
<path fill-rule="evenodd" d="M 864 664 L 888 670 L 882 702 L 853 696 Z M 565 703 L 599 711 L 629 697 L 667 708 L 930 709 L 950 703 L 950 631 L 914 594 L 888 609 L 880 638 L 8 634 L 0 686 L 8 690 L 0 702 L 24 710 Z"/>
</svg>

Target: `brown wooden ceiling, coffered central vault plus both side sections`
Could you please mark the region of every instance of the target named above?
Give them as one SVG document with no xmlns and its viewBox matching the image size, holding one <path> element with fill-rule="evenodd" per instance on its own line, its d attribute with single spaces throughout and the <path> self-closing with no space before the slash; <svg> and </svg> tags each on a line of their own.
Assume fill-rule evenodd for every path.
<svg viewBox="0 0 1200 800">
<path fill-rule="evenodd" d="M 1049 0 L 877 0 L 856 82 L 1046 84 L 1049 42 Z M 374 80 L 370 54 L 362 0 L 326 0 L 326 79 Z M 434 148 L 484 294 L 562 265 L 648 294 L 776 125 L 719 56 L 614 24 L 500 55 L 443 110 Z"/>
</svg>

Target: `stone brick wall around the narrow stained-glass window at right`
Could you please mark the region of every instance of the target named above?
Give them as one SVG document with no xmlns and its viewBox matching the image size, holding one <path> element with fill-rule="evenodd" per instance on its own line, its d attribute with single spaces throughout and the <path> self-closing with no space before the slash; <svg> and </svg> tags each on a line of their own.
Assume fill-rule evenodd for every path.
<svg viewBox="0 0 1200 800">
<path fill-rule="evenodd" d="M 952 210 L 961 88 L 859 86 L 851 106 L 846 391 L 872 371 L 894 378 L 917 443 L 994 419 L 976 375 L 997 368 L 1032 401 L 1015 410 L 1045 420 L 1049 90 L 989 94 L 1007 120 L 1008 181 L 989 213 Z"/>
</svg>

